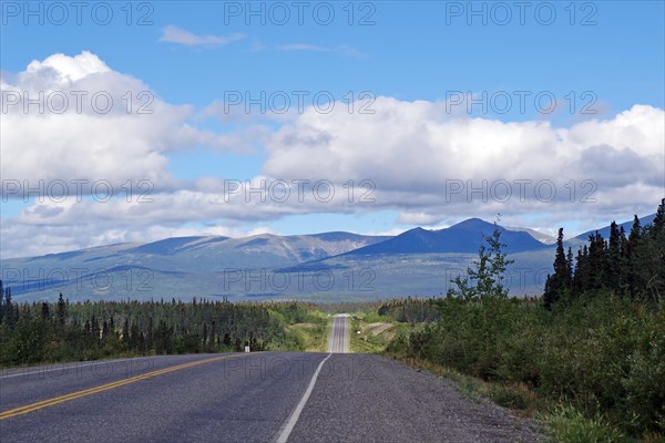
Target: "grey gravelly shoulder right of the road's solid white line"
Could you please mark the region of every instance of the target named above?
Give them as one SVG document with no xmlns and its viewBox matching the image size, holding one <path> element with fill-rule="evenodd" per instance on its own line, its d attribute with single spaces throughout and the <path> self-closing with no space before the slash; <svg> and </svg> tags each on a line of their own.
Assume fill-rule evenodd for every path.
<svg viewBox="0 0 665 443">
<path fill-rule="evenodd" d="M 335 354 L 290 442 L 543 442 L 534 423 L 450 380 L 371 354 Z"/>
</svg>

